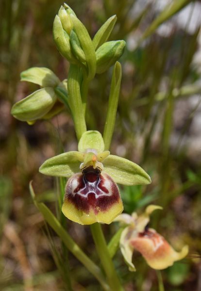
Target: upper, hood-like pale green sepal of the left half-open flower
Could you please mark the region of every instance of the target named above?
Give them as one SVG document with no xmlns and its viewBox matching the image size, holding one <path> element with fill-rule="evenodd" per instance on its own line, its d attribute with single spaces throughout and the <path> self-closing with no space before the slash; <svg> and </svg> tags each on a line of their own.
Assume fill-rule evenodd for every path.
<svg viewBox="0 0 201 291">
<path fill-rule="evenodd" d="M 60 83 L 59 78 L 45 67 L 33 67 L 23 71 L 20 78 L 21 81 L 32 82 L 42 87 L 56 87 Z"/>
</svg>

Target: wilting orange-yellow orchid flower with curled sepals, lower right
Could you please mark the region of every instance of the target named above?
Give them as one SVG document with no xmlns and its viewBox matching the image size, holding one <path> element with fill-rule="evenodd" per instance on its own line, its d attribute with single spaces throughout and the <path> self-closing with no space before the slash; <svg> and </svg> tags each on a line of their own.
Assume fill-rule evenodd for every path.
<svg viewBox="0 0 201 291">
<path fill-rule="evenodd" d="M 151 268 L 156 270 L 168 268 L 175 261 L 183 259 L 188 253 L 187 245 L 180 252 L 176 252 L 163 236 L 147 227 L 150 214 L 156 209 L 162 209 L 162 207 L 150 205 L 139 216 L 136 212 L 133 212 L 132 215 L 123 213 L 115 219 L 115 221 L 128 225 L 121 234 L 120 250 L 130 271 L 135 271 L 132 263 L 134 249 L 142 254 Z"/>
</svg>

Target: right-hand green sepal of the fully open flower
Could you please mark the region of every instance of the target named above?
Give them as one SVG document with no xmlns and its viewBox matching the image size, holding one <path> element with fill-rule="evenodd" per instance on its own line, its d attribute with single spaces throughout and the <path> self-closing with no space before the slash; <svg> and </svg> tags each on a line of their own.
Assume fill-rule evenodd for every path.
<svg viewBox="0 0 201 291">
<path fill-rule="evenodd" d="M 109 155 L 103 162 L 104 171 L 116 183 L 123 185 L 150 184 L 150 176 L 137 164 L 127 159 Z"/>
</svg>

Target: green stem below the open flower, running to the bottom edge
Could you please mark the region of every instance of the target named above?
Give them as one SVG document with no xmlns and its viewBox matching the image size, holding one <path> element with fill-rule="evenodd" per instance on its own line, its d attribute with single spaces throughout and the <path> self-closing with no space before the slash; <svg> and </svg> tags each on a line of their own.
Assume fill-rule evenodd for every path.
<svg viewBox="0 0 201 291">
<path fill-rule="evenodd" d="M 120 284 L 119 278 L 117 276 L 113 261 L 110 257 L 110 253 L 105 242 L 105 238 L 102 232 L 101 225 L 95 223 L 91 225 L 91 232 L 93 239 L 96 245 L 96 249 L 101 259 L 102 267 L 105 271 L 105 274 L 108 278 L 108 283 L 110 285 L 111 291 L 123 291 L 123 288 Z"/>
</svg>

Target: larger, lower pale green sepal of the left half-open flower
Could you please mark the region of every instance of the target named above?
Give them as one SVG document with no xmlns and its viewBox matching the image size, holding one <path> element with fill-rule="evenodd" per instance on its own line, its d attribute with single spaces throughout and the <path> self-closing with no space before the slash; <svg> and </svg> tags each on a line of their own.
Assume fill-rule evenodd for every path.
<svg viewBox="0 0 201 291">
<path fill-rule="evenodd" d="M 42 88 L 14 104 L 11 114 L 21 121 L 39 119 L 50 111 L 56 99 L 52 88 Z"/>
</svg>

